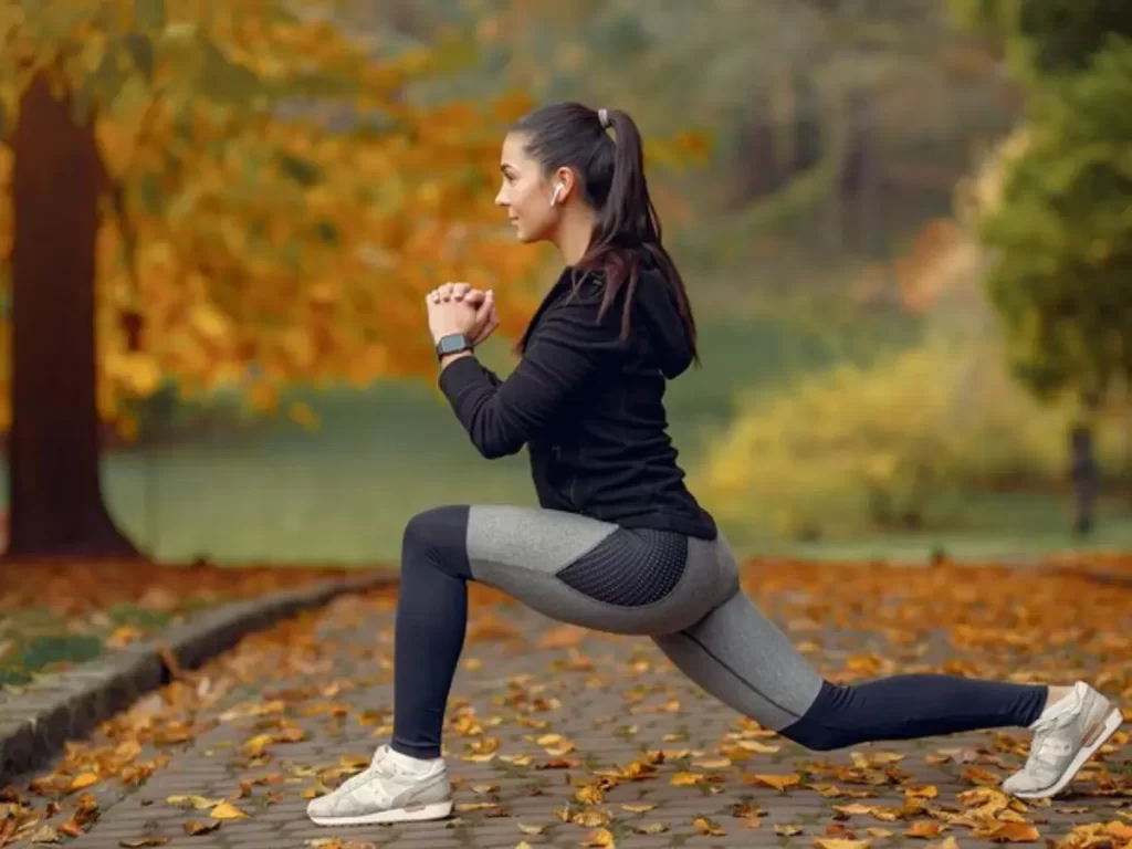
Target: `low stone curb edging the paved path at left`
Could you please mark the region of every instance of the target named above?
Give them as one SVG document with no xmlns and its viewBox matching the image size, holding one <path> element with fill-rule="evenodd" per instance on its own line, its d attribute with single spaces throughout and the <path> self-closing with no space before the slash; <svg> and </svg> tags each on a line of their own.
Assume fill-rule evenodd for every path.
<svg viewBox="0 0 1132 849">
<path fill-rule="evenodd" d="M 338 595 L 396 582 L 395 572 L 378 572 L 222 604 L 153 640 L 69 669 L 34 692 L 0 701 L 0 787 L 58 754 L 67 740 L 85 737 L 139 696 L 166 684 L 170 668 L 162 659 L 164 649 L 178 664 L 194 669 L 249 633 Z"/>
</svg>

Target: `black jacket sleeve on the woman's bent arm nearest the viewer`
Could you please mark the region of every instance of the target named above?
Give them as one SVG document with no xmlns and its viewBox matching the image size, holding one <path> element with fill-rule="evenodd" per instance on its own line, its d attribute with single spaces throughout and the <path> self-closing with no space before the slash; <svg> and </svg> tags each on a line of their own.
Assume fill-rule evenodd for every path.
<svg viewBox="0 0 1132 849">
<path fill-rule="evenodd" d="M 440 372 L 440 391 L 484 457 L 518 453 L 624 349 L 616 310 L 599 325 L 592 302 L 548 311 L 515 369 L 498 385 L 474 357 Z M 498 378 L 496 378 L 498 380 Z"/>
</svg>

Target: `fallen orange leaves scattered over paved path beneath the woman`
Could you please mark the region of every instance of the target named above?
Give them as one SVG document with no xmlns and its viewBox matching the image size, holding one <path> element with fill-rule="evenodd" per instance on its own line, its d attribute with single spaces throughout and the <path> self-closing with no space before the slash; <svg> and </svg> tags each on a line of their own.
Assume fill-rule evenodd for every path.
<svg viewBox="0 0 1132 849">
<path fill-rule="evenodd" d="M 1087 678 L 1120 700 L 1125 719 L 1132 720 L 1132 589 L 1097 582 L 1079 569 L 773 560 L 748 564 L 744 584 L 832 680 L 915 671 L 1019 683 Z M 792 839 L 783 846 L 821 849 L 904 846 L 909 839 L 925 849 L 1132 847 L 1132 740 L 1126 728 L 1078 777 L 1070 798 L 1037 801 L 1013 799 L 1000 789 L 1024 758 L 1029 741 L 1029 735 L 1010 729 L 987 732 L 977 744 L 941 738 L 915 747 L 807 753 L 736 717 L 707 746 L 691 744 L 692 731 L 646 741 L 650 713 L 689 706 L 686 692 L 685 705 L 678 701 L 685 684 L 677 674 L 650 688 L 636 678 L 650 668 L 662 669 L 659 655 L 648 653 L 646 641 L 626 667 L 624 659 L 609 660 L 606 649 L 604 641 L 620 637 L 572 626 L 524 633 L 514 612 L 498 603 L 498 593 L 473 588 L 471 600 L 463 668 L 474 672 L 490 667 L 479 655 L 503 642 L 543 653 L 546 675 L 501 678 L 490 715 L 477 715 L 455 692 L 446 719 L 448 757 L 454 764 L 497 765 L 499 781 L 520 771 L 532 788 L 538 777 L 549 777 L 566 783 L 569 800 L 548 801 L 539 818 L 516 816 L 498 782 L 462 783 L 453 827 L 514 817 L 515 838 L 508 844 L 516 849 L 530 849 L 551 834 L 556 844 L 574 835 L 574 844 L 588 847 L 633 846 L 635 834 L 666 833 L 674 846 L 687 833 L 726 841 L 713 844 L 740 846 L 749 844 L 754 832 Z M 355 732 L 361 737 L 391 731 L 387 706 L 366 704 L 355 693 L 371 674 L 388 681 L 392 641 L 371 626 L 375 611 L 389 623 L 394 604 L 395 592 L 388 590 L 340 599 L 327 610 L 249 636 L 199 670 L 174 670 L 172 684 L 105 722 L 89 741 L 70 745 L 52 769 L 0 790 L 0 846 L 82 835 L 97 826 L 117 795 L 135 791 L 155 811 L 181 808 L 186 820 L 174 825 L 189 835 L 223 831 L 231 832 L 228 840 L 238 839 L 241 823 L 271 816 L 281 804 L 289 817 L 301 820 L 305 800 L 362 770 L 368 752 L 319 757 L 303 747 L 302 755 L 292 755 L 294 744 L 341 735 L 348 723 L 362 727 Z M 344 645 L 327 638 L 332 626 L 343 635 L 362 631 L 367 636 Z M 343 655 L 363 658 L 357 667 L 363 675 L 345 676 L 344 667 L 335 667 Z M 284 679 L 302 684 L 284 687 Z M 612 704 L 624 706 L 610 721 L 628 723 L 626 734 L 636 735 L 640 723 L 641 737 L 633 738 L 642 744 L 638 755 L 601 763 L 602 752 L 586 751 L 555 727 L 555 718 L 569 711 L 569 700 L 581 688 L 608 691 Z M 208 753 L 226 764 L 230 780 L 223 787 L 146 795 L 148 779 L 197 737 L 220 727 L 233 732 L 223 753 Z M 526 741 L 525 752 L 517 751 L 520 739 Z M 640 796 L 650 787 L 669 797 L 687 792 L 697 800 L 696 809 L 709 813 L 688 815 L 657 805 Z M 618 797 L 626 788 L 638 800 Z M 745 800 L 718 811 L 720 803 L 712 800 L 718 794 Z M 804 800 L 813 815 L 799 814 Z M 169 835 L 169 820 L 157 826 L 166 833 L 139 830 L 119 846 L 164 846 L 175 839 Z M 378 844 L 370 839 L 331 833 L 302 842 L 370 849 Z"/>
</svg>

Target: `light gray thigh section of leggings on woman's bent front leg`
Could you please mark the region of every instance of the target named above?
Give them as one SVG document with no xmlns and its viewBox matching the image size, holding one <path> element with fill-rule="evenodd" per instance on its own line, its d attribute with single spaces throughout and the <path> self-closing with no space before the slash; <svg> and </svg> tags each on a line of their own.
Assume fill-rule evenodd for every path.
<svg viewBox="0 0 1132 849">
<path fill-rule="evenodd" d="M 512 505 L 472 505 L 468 560 L 472 577 L 559 621 L 615 634 L 664 634 L 701 619 L 719 601 L 714 547 L 688 540 L 676 588 L 652 604 L 621 607 L 578 592 L 556 573 L 592 551 L 618 526 L 588 516 Z"/>
</svg>

